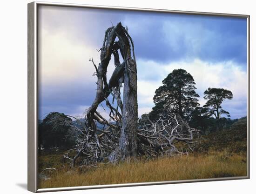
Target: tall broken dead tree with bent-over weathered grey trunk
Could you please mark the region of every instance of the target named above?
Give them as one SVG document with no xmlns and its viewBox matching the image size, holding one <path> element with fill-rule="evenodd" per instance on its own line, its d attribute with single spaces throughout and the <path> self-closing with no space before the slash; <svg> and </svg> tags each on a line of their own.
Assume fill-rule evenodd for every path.
<svg viewBox="0 0 256 194">
<path fill-rule="evenodd" d="M 115 41 L 116 37 L 119 39 Z M 132 45 L 132 52 L 131 52 Z M 115 160 L 123 160 L 128 156 L 136 156 L 137 154 L 137 118 L 138 118 L 138 105 L 137 105 L 137 70 L 134 55 L 133 41 L 128 32 L 122 27 L 121 22 L 115 27 L 109 27 L 106 30 L 103 45 L 101 47 L 101 63 L 98 67 L 94 64 L 97 75 L 97 91 L 94 102 L 89 107 L 86 115 L 85 126 L 86 135 L 89 138 L 96 140 L 96 157 L 98 159 L 98 153 L 100 153 L 101 159 L 104 157 L 102 150 L 101 136 L 97 134 L 96 122 L 109 125 L 106 120 L 96 112 L 97 107 L 102 101 L 106 101 L 106 105 L 110 108 L 109 116 L 111 119 L 117 122 L 116 127 L 121 127 L 121 137 L 119 141 L 119 147 L 116 148 L 118 154 Z M 118 50 L 120 50 L 123 62 L 120 63 Z M 111 55 L 114 55 L 115 70 L 107 83 L 107 69 L 111 59 Z M 133 57 L 133 59 L 132 59 Z M 124 95 L 123 103 L 120 97 L 120 87 L 124 81 Z M 117 101 L 117 107 L 114 108 L 108 101 L 109 94 L 114 96 Z M 113 99 L 113 101 L 114 101 Z M 118 107 L 121 109 L 121 114 L 118 112 Z M 121 123 L 119 124 L 118 122 Z M 93 137 L 94 136 L 94 137 Z M 82 146 L 73 159 L 75 164 L 76 159 L 81 155 L 82 151 L 88 146 L 88 138 L 86 146 Z"/>
</svg>

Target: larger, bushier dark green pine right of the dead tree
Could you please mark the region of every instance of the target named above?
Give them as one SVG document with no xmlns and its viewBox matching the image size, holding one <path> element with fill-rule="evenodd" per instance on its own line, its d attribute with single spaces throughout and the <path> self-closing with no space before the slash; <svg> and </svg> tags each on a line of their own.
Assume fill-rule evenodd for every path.
<svg viewBox="0 0 256 194">
<path fill-rule="evenodd" d="M 162 81 L 153 98 L 155 107 L 149 114 L 151 120 L 168 113 L 189 117 L 195 107 L 199 106 L 199 95 L 195 92 L 195 81 L 184 69 L 175 69 Z"/>
</svg>

